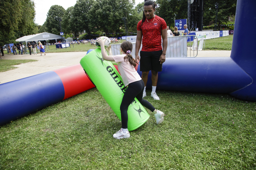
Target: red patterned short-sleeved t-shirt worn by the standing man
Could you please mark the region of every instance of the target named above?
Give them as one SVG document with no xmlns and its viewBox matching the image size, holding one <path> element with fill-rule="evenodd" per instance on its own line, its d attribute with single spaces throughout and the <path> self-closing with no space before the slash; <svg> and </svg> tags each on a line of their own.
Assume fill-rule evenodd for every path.
<svg viewBox="0 0 256 170">
<path fill-rule="evenodd" d="M 137 25 L 137 30 L 142 31 L 143 36 L 141 51 L 162 50 L 161 31 L 167 28 L 166 22 L 157 15 L 153 20 L 154 18 L 150 18 L 148 21 L 145 20 L 142 25 L 142 20 L 140 20 Z"/>
</svg>

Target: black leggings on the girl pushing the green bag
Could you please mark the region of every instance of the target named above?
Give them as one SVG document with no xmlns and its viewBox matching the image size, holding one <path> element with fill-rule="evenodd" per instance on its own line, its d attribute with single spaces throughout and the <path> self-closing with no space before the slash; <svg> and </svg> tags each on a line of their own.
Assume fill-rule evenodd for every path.
<svg viewBox="0 0 256 170">
<path fill-rule="evenodd" d="M 132 82 L 129 84 L 128 88 L 123 95 L 122 103 L 120 105 L 121 111 L 121 120 L 122 120 L 122 128 L 127 129 L 128 122 L 128 114 L 127 110 L 129 105 L 133 102 L 133 99 L 136 97 L 139 102 L 146 108 L 148 108 L 151 112 L 155 110 L 155 108 L 148 101 L 144 100 L 143 97 L 144 90 L 144 82 L 143 80 L 139 80 L 136 82 Z"/>
</svg>

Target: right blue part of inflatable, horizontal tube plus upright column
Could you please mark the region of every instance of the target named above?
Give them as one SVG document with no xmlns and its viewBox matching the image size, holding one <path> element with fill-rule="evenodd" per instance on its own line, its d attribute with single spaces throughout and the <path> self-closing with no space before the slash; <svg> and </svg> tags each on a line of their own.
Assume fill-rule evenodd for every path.
<svg viewBox="0 0 256 170">
<path fill-rule="evenodd" d="M 236 7 L 235 29 L 243 30 L 246 23 L 255 28 L 256 1 L 238 0 Z M 163 71 L 158 73 L 157 89 L 226 93 L 238 99 L 256 101 L 255 46 L 254 35 L 234 31 L 229 58 L 166 58 Z M 147 87 L 151 84 L 148 78 Z"/>
</svg>

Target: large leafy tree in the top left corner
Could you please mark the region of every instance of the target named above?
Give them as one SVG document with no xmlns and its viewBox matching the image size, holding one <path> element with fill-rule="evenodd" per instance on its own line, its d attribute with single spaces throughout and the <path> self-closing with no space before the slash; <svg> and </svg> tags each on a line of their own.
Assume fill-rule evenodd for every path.
<svg viewBox="0 0 256 170">
<path fill-rule="evenodd" d="M 15 7 L 15 9 L 14 9 Z M 29 35 L 35 27 L 33 0 L 0 1 L 0 44 L 15 42 L 15 31 Z"/>
</svg>

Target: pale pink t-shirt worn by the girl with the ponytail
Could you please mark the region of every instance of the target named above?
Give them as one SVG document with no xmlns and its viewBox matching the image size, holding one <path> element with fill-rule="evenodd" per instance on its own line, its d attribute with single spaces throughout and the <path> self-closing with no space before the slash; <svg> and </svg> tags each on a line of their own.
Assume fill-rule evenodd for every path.
<svg viewBox="0 0 256 170">
<path fill-rule="evenodd" d="M 112 57 L 117 63 L 119 73 L 121 74 L 123 83 L 125 84 L 125 87 L 126 87 L 128 86 L 129 83 L 141 80 L 141 77 L 129 61 L 128 62 L 124 61 L 125 56 L 126 54 L 121 54 L 121 55 L 115 55 Z"/>
</svg>

